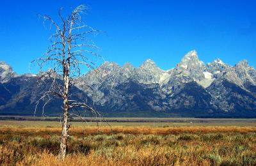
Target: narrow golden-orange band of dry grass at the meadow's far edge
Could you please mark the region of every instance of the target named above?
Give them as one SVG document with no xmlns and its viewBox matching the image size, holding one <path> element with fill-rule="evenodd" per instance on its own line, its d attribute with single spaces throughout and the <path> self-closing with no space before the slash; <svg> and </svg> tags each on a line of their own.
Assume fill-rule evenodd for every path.
<svg viewBox="0 0 256 166">
<path fill-rule="evenodd" d="M 24 127 L 24 126 L 1 126 L 1 132 L 14 133 L 60 133 L 61 128 L 49 127 Z M 256 132 L 256 126 L 179 126 L 179 127 L 150 127 L 150 126 L 76 126 L 70 129 L 74 135 L 98 134 L 98 133 L 131 133 L 131 134 L 179 134 L 179 133 L 248 133 Z"/>
</svg>

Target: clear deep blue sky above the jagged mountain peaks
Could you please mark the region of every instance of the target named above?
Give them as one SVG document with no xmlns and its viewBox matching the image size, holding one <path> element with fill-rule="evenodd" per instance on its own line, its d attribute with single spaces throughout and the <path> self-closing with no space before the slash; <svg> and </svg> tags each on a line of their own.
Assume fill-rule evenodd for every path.
<svg viewBox="0 0 256 166">
<path fill-rule="evenodd" d="M 106 61 L 139 66 L 150 58 L 168 69 L 195 49 L 205 63 L 220 57 L 228 64 L 248 59 L 256 66 L 256 1 L 246 0 L 1 0 L 0 61 L 28 73 L 51 34 L 37 14 L 56 18 L 61 6 L 68 11 L 79 4 L 90 7 L 87 23 L 106 31 L 93 39 Z"/>
</svg>

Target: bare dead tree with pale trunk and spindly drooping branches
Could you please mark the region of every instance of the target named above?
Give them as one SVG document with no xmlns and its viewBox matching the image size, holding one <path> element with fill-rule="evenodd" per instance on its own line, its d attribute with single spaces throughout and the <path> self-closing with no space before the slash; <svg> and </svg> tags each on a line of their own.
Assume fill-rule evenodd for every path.
<svg viewBox="0 0 256 166">
<path fill-rule="evenodd" d="M 87 10 L 86 6 L 77 6 L 70 15 L 65 17 L 62 15 L 61 10 L 62 8 L 58 12 L 59 22 L 56 22 L 48 15 L 41 16 L 44 19 L 44 23 L 48 22 L 50 27 L 54 27 L 56 31 L 54 30 L 50 37 L 51 45 L 45 54 L 34 62 L 40 67 L 40 80 L 43 84 L 49 85 L 47 91 L 36 102 L 36 107 L 39 102 L 44 101 L 44 114 L 44 107 L 51 102 L 52 98 L 58 97 L 63 100 L 60 142 L 60 158 L 63 160 L 67 151 L 70 109 L 79 107 L 84 110 L 90 110 L 94 114 L 99 114 L 86 102 L 70 98 L 72 95 L 70 88 L 76 86 L 83 73 L 95 69 L 94 57 L 99 57 L 97 54 L 97 49 L 99 48 L 89 38 L 93 34 L 99 33 L 99 31 L 88 26 L 81 19 L 81 15 Z M 45 69 L 47 71 L 43 72 Z"/>
</svg>

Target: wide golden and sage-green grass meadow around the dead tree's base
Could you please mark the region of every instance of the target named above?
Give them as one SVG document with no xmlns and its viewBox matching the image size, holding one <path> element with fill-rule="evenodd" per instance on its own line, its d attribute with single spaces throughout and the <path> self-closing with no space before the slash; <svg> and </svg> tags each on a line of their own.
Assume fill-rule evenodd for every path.
<svg viewBox="0 0 256 166">
<path fill-rule="evenodd" d="M 256 165 L 254 121 L 73 123 L 58 160 L 60 123 L 0 121 L 0 165 Z"/>
</svg>

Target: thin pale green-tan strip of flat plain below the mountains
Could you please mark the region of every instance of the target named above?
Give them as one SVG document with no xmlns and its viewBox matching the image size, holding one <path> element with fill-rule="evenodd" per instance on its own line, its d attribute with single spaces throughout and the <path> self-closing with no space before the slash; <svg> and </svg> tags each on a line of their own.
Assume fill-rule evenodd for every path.
<svg viewBox="0 0 256 166">
<path fill-rule="evenodd" d="M 4 119 L 6 116 L 0 116 L 0 119 Z M 13 118 L 13 117 L 12 117 Z M 15 126 L 61 126 L 60 121 L 45 121 L 47 119 L 54 119 L 55 117 L 20 117 L 16 116 L 17 120 L 0 120 L 0 126 L 3 125 L 15 125 Z M 25 120 L 24 120 L 25 119 Z M 36 119 L 36 121 L 33 121 Z M 43 120 L 43 121 L 41 121 Z M 81 119 L 75 119 L 72 122 L 72 126 L 96 126 L 97 123 L 93 122 L 95 119 L 87 119 L 87 123 L 81 122 Z M 78 121 L 78 122 L 77 122 Z M 98 118 L 99 126 L 108 126 L 108 124 L 101 118 Z M 111 126 L 256 126 L 256 119 L 218 119 L 218 118 L 191 118 L 191 117 L 107 117 L 106 121 Z"/>
</svg>

